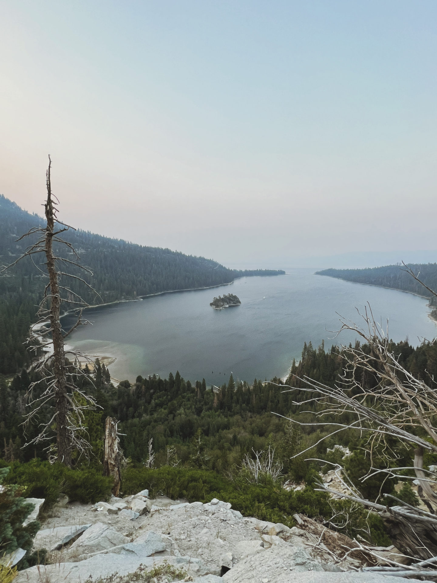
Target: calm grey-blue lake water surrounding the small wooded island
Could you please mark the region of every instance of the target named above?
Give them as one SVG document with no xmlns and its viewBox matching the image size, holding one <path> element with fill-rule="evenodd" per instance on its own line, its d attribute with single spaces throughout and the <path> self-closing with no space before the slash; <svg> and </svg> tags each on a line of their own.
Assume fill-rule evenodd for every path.
<svg viewBox="0 0 437 583">
<path fill-rule="evenodd" d="M 339 316 L 359 321 L 355 307 L 371 304 L 375 318 L 389 320 L 393 340 L 408 337 L 417 345 L 436 335 L 428 318 L 427 300 L 402 291 L 344 282 L 313 274 L 311 269 L 288 269 L 272 278 L 242 278 L 230 286 L 168 293 L 143 301 L 87 311 L 93 326 L 83 326 L 69 344 L 84 352 L 117 357 L 110 366 L 118 380 L 172 371 L 191 381 L 222 384 L 235 379 L 284 377 L 304 342 L 318 346 L 353 342 L 341 333 Z M 214 296 L 232 292 L 238 307 L 213 310 Z M 263 299 L 265 297 L 265 299 Z"/>
</svg>

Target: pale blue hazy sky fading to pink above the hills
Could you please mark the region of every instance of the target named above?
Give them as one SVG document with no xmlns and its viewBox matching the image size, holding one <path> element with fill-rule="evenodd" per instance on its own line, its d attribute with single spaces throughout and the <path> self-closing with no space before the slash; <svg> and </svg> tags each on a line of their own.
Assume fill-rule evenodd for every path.
<svg viewBox="0 0 437 583">
<path fill-rule="evenodd" d="M 437 248 L 436 0 L 2 0 L 0 192 L 224 264 Z"/>
</svg>

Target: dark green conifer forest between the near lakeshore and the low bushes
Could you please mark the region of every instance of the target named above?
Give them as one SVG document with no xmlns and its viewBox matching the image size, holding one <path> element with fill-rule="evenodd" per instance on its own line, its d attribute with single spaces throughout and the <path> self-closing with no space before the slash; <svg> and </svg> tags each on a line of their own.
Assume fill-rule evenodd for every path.
<svg viewBox="0 0 437 583">
<path fill-rule="evenodd" d="M 424 343 L 414 348 L 404 341 L 391 343 L 390 350 L 411 374 L 425 379 L 437 389 L 437 343 Z M 167 447 L 173 445 L 178 458 L 187 461 L 192 453 L 192 440 L 200 431 L 206 456 L 202 465 L 209 469 L 228 470 L 233 463 L 239 463 L 242 455 L 251 451 L 252 447 L 262 449 L 270 442 L 277 447 L 277 454 L 284 456 L 283 462 L 288 471 L 291 468 L 290 456 L 284 453 L 283 448 L 296 448 L 297 442 L 308 444 L 315 428 L 303 428 L 299 439 L 295 436 L 296 443 L 286 446 L 286 420 L 271 412 L 283 416 L 299 414 L 300 420 L 304 417 L 311 419 L 311 412 L 317 408 L 316 403 L 305 403 L 305 413 L 299 413 L 300 408 L 295 404 L 305 402 L 310 396 L 305 391 L 304 381 L 300 379 L 306 376 L 332 387 L 339 381 L 345 366 L 346 354 L 338 346 L 332 346 L 329 350 L 323 346 L 314 349 L 310 342 L 305 344 L 299 363 L 293 361 L 285 382 L 302 389 L 298 393 L 283 392 L 283 387 L 277 385 L 284 383 L 277 378 L 273 379 L 276 384 L 270 384 L 260 380 L 236 383 L 231 377 L 227 384 L 213 391 L 206 386 L 205 380 L 192 384 L 178 372 L 168 378 L 139 376 L 134 384 L 122 381 L 114 388 L 107 369 L 99 363 L 94 373 L 89 375 L 89 380 L 81 377 L 78 386 L 94 395 L 103 408 L 100 412 L 90 412 L 91 417 L 87 419 L 93 434 L 96 429 L 96 440 L 100 440 L 105 417 L 115 417 L 120 422 L 122 447 L 133 462 L 145 459 L 151 437 L 158 461 L 164 460 Z M 24 395 L 33 376 L 23 371 L 13 378 L 9 387 L 1 379 L 0 375 L 0 443 L 6 440 L 6 443 L 12 444 L 18 439 L 22 444 L 23 428 L 20 423 Z M 374 379 L 369 377 L 368 382 L 371 386 Z M 326 415 L 326 423 L 338 421 L 337 417 L 333 414 L 331 419 Z M 355 440 L 354 435 L 354 431 L 346 431 L 335 436 L 332 443 L 348 445 Z M 323 448 L 326 452 L 329 443 L 320 445 L 319 453 L 323 452 Z M 101 447 L 101 442 L 96 447 Z M 43 448 L 44 445 L 36 450 L 19 451 L 17 448 L 16 456 L 30 459 L 37 454 L 44 458 Z"/>
</svg>

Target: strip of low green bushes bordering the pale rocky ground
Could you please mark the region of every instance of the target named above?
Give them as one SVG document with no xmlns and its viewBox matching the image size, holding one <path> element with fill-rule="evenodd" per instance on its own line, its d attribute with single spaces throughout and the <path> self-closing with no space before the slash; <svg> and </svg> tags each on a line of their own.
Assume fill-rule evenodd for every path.
<svg viewBox="0 0 437 583">
<path fill-rule="evenodd" d="M 0 461 L 0 467 L 5 462 Z M 66 494 L 71 501 L 82 503 L 107 500 L 111 494 L 112 479 L 104 477 L 92 468 L 69 469 L 60 464 L 51 465 L 34 459 L 27 463 L 10 462 L 10 472 L 5 483 L 19 483 L 29 497 L 45 498 L 46 507 L 53 504 L 59 494 Z M 311 476 L 309 476 L 311 477 Z M 309 480 L 311 482 L 311 479 Z M 243 476 L 227 479 L 216 472 L 186 467 L 161 466 L 157 469 L 144 467 L 126 468 L 122 475 L 122 493 L 136 494 L 149 489 L 150 496 L 165 494 L 173 500 L 186 498 L 189 502 L 209 502 L 218 498 L 232 504 L 245 516 L 260 520 L 282 522 L 294 526 L 296 512 L 311 518 L 330 519 L 333 509 L 327 494 L 307 485 L 301 491 L 287 491 L 278 482 L 265 477 L 260 483 L 249 483 Z M 369 531 L 369 540 L 375 544 L 388 544 L 382 521 L 375 515 L 369 517 L 363 510 L 351 512 L 350 508 L 336 508 L 345 512 L 350 522 L 341 532 L 350 536 Z"/>
</svg>

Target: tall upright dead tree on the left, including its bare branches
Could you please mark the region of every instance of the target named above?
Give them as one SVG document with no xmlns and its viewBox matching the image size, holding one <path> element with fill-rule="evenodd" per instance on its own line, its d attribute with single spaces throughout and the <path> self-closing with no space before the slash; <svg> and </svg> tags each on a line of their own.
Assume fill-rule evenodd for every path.
<svg viewBox="0 0 437 583">
<path fill-rule="evenodd" d="M 82 310 L 89 305 L 79 293 L 71 289 L 68 282 L 69 280 L 80 282 L 86 289 L 91 290 L 93 295 L 95 294 L 94 297 L 100 296 L 83 277 L 77 273 L 64 271 L 66 265 L 71 271 L 80 273 L 79 270 L 83 270 L 88 275 L 93 275 L 89 268 L 79 264 L 79 255 L 73 245 L 61 237 L 65 231 L 75 229 L 57 218 L 59 201 L 52 194 L 50 171 L 49 156 L 46 173 L 47 199 L 44 205 L 46 224 L 32 227 L 17 239 L 20 241 L 25 237 L 36 237 L 37 241 L 29 245 L 16 261 L 5 266 L 2 271 L 29 257 L 41 276 L 48 280 L 38 307 L 37 322 L 31 326 L 28 339 L 29 350 L 37 357 L 32 366 L 33 371 L 37 373 L 37 380 L 32 382 L 29 388 L 27 406 L 30 412 L 24 424 L 27 426 L 37 422 L 39 432 L 25 445 L 50 441 L 47 449 L 51 460 L 71 466 L 73 452 L 78 452 L 79 456 L 89 455 L 90 444 L 86 440 L 86 427 L 83 425 L 84 411 L 94 408 L 96 403 L 91 396 L 75 385 L 77 377 L 83 373 L 80 367 L 72 366 L 67 359 L 68 354 L 71 360 L 87 360 L 86 355 L 78 351 L 65 350 L 64 342 L 78 326 L 88 323 L 82 317 Z M 62 245 L 66 246 L 71 258 L 59 255 L 58 249 Z M 38 264 L 36 256 L 41 253 L 44 254 L 45 261 Z M 45 269 L 41 269 L 41 266 L 45 266 Z M 77 317 L 75 324 L 67 332 L 63 331 L 61 325 L 61 307 L 64 304 L 70 309 L 74 308 Z M 39 357 L 41 351 L 43 356 Z M 45 419 L 40 422 L 41 417 Z M 56 444 L 52 443 L 54 432 Z"/>
</svg>

